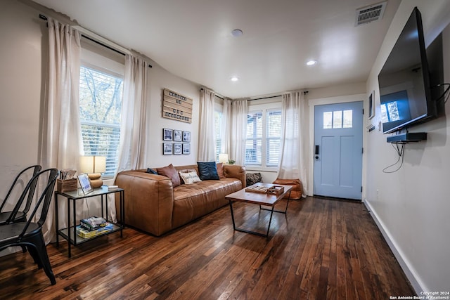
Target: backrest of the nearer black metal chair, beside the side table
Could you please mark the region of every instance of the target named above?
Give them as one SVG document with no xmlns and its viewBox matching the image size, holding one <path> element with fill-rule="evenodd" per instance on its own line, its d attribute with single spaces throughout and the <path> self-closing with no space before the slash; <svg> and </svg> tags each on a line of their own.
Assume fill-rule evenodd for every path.
<svg viewBox="0 0 450 300">
<path fill-rule="evenodd" d="M 58 176 L 59 176 L 58 169 L 55 168 L 46 169 L 34 175 L 30 183 L 28 183 L 28 185 L 31 186 L 33 184 L 32 182 L 33 179 L 47 178 L 46 186 L 44 190 L 42 190 L 42 192 L 40 193 L 36 205 L 34 205 L 34 209 L 32 210 L 30 216 L 28 217 L 28 221 L 25 227 L 23 228 L 23 231 L 20 234 L 20 236 L 23 236 L 27 232 L 28 226 L 30 226 L 30 223 L 32 223 L 34 216 L 39 210 L 39 207 L 41 207 L 41 216 L 39 216 L 39 220 L 37 221 L 37 223 L 39 224 L 39 228 L 44 224 L 45 219 L 47 217 L 47 213 L 49 212 L 51 197 L 53 196 L 53 189 L 55 188 L 56 178 L 58 178 Z"/>
</svg>

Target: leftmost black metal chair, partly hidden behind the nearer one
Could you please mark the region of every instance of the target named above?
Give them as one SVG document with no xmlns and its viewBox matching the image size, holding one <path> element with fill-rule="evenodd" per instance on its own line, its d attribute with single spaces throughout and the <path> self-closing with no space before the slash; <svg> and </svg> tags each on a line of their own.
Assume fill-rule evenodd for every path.
<svg viewBox="0 0 450 300">
<path fill-rule="evenodd" d="M 32 172 L 32 174 L 30 174 Z M 26 222 L 27 221 L 27 214 L 28 211 L 30 211 L 31 203 L 34 197 L 34 191 L 36 190 L 37 185 L 37 178 L 34 178 L 33 176 L 38 174 L 39 171 L 41 171 L 41 166 L 34 165 L 31 167 L 27 167 L 20 171 L 18 176 L 15 176 L 15 179 L 13 181 L 13 184 L 11 185 L 11 188 L 9 188 L 8 193 L 6 194 L 5 199 L 1 203 L 0 206 L 0 226 L 7 224 L 7 223 L 15 223 L 15 222 Z M 11 218 L 11 214 L 13 211 L 4 211 L 6 208 L 6 202 L 8 202 L 9 198 L 12 197 L 13 191 L 16 190 L 16 192 L 19 192 L 20 185 L 23 184 L 24 191 L 25 187 L 27 186 L 27 183 L 31 181 L 31 179 L 34 178 L 32 185 L 30 185 L 30 189 L 27 190 L 27 193 L 22 193 L 20 197 L 18 197 L 17 200 L 11 201 L 11 204 L 14 205 L 13 211 L 16 209 L 20 209 L 20 207 L 23 204 L 23 201 L 25 200 L 25 197 L 27 197 L 27 202 L 25 202 L 25 207 L 23 210 L 18 211 L 17 214 L 15 214 L 14 218 Z"/>
</svg>

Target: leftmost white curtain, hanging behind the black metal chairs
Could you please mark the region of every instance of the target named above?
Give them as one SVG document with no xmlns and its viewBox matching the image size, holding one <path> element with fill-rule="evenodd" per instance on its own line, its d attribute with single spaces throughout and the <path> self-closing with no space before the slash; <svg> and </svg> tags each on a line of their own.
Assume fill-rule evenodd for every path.
<svg viewBox="0 0 450 300">
<path fill-rule="evenodd" d="M 80 34 L 69 25 L 48 18 L 49 27 L 49 77 L 46 84 L 39 164 L 43 169 L 79 169 L 79 155 L 82 153 L 82 136 L 79 126 L 79 62 Z M 67 227 L 65 203 L 59 202 L 60 228 Z M 82 205 L 77 215 L 82 214 Z M 53 204 L 44 224 L 46 243 L 53 240 Z"/>
</svg>

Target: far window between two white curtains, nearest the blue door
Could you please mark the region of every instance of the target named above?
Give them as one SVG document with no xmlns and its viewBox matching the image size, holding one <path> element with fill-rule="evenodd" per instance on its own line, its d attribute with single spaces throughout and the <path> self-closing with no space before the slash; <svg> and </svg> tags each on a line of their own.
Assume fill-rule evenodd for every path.
<svg viewBox="0 0 450 300">
<path fill-rule="evenodd" d="M 280 141 L 280 109 L 264 109 L 248 113 L 245 164 L 277 167 L 280 158 Z"/>
</svg>

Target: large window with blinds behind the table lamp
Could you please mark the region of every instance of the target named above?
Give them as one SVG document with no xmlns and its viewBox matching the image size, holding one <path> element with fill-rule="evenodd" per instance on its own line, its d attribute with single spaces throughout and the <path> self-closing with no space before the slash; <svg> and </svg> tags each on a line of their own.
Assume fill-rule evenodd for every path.
<svg viewBox="0 0 450 300">
<path fill-rule="evenodd" d="M 106 157 L 104 176 L 117 169 L 123 78 L 83 65 L 79 75 L 79 118 L 84 155 Z"/>
</svg>

